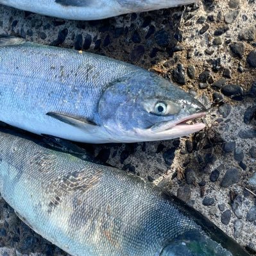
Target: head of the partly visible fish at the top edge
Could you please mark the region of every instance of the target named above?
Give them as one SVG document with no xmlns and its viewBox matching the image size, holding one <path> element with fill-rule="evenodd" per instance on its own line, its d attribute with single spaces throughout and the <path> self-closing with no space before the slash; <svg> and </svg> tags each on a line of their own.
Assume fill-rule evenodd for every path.
<svg viewBox="0 0 256 256">
<path fill-rule="evenodd" d="M 145 12 L 150 10 L 170 8 L 184 4 L 195 3 L 197 0 L 117 0 L 122 8 L 132 12 Z"/>
</svg>

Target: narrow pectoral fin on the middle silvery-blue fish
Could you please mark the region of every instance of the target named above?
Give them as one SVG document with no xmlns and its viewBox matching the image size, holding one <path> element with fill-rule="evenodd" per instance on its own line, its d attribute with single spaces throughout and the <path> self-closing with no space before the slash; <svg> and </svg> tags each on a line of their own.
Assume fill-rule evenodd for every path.
<svg viewBox="0 0 256 256">
<path fill-rule="evenodd" d="M 98 124 L 87 119 L 80 119 L 80 118 L 71 117 L 69 115 L 64 115 L 64 114 L 55 113 L 55 112 L 48 112 L 46 115 L 49 115 L 50 117 L 58 119 L 59 121 L 62 121 L 66 124 L 76 126 L 78 128 L 85 128 L 85 126 L 92 126 L 92 128 L 99 127 Z"/>
</svg>

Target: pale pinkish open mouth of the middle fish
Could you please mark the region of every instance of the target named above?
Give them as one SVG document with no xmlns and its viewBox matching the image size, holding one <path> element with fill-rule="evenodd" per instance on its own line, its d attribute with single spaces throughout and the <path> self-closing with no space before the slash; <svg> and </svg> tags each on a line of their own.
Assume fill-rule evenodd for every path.
<svg viewBox="0 0 256 256">
<path fill-rule="evenodd" d="M 200 113 L 189 115 L 187 117 L 183 117 L 176 122 L 173 120 L 160 122 L 151 126 L 150 130 L 154 133 L 174 132 L 174 130 L 176 132 L 180 132 L 184 134 L 198 132 L 200 130 L 203 130 L 203 128 L 205 128 L 205 124 L 203 123 L 189 124 L 187 122 L 194 121 L 195 119 L 203 117 L 205 115 L 206 115 L 206 112 L 200 112 Z"/>
</svg>

